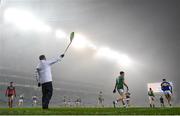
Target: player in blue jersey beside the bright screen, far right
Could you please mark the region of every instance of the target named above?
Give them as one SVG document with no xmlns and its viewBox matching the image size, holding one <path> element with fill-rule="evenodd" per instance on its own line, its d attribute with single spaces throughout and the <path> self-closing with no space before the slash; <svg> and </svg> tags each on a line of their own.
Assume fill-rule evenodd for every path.
<svg viewBox="0 0 180 116">
<path fill-rule="evenodd" d="M 172 85 L 169 82 L 167 82 L 166 79 L 163 79 L 163 82 L 161 83 L 161 90 L 163 91 L 169 106 L 171 106 Z"/>
</svg>

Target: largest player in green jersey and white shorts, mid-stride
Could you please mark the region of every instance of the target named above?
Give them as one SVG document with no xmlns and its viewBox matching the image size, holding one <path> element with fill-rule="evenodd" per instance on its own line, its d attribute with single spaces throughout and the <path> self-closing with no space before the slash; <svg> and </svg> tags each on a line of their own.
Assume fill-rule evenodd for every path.
<svg viewBox="0 0 180 116">
<path fill-rule="evenodd" d="M 125 101 L 124 101 L 125 100 L 124 86 L 126 86 L 127 92 L 129 91 L 129 88 L 128 88 L 128 85 L 124 81 L 124 75 L 125 75 L 124 72 L 121 71 L 120 75 L 116 78 L 116 84 L 115 84 L 113 93 L 116 93 L 116 90 L 117 90 L 118 93 L 119 93 L 119 98 L 117 100 L 113 101 L 114 107 L 116 107 L 116 104 L 119 101 L 121 101 L 123 106 L 126 107 L 126 104 L 125 104 Z"/>
</svg>

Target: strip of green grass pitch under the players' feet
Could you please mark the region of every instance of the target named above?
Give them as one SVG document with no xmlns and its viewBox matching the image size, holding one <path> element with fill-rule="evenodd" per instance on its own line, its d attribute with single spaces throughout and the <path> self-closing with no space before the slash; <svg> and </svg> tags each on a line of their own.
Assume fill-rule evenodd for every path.
<svg viewBox="0 0 180 116">
<path fill-rule="evenodd" d="M 180 108 L 0 108 L 0 115 L 180 115 Z"/>
</svg>

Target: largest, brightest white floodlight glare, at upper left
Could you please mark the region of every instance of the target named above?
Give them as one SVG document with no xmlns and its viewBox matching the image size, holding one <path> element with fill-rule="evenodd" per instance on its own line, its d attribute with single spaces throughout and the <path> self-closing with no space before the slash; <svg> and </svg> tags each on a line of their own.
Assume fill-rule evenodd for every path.
<svg viewBox="0 0 180 116">
<path fill-rule="evenodd" d="M 31 12 L 16 8 L 8 8 L 4 12 L 4 20 L 22 30 L 49 32 L 51 28 L 38 20 Z"/>
</svg>

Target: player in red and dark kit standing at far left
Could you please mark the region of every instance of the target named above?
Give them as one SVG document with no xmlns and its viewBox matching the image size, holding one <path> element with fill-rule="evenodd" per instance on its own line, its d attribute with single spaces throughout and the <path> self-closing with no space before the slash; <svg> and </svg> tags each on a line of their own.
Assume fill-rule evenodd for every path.
<svg viewBox="0 0 180 116">
<path fill-rule="evenodd" d="M 13 86 L 13 82 L 10 82 L 10 86 L 7 87 L 5 96 L 8 97 L 8 106 L 12 108 L 13 106 L 13 99 L 16 97 L 16 89 Z"/>
</svg>

